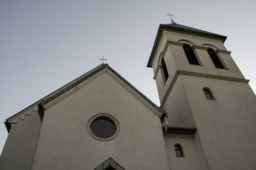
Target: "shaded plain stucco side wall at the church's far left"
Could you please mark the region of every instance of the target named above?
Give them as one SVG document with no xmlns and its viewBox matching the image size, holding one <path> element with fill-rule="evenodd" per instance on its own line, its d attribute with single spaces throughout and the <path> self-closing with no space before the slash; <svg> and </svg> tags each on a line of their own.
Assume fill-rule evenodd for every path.
<svg viewBox="0 0 256 170">
<path fill-rule="evenodd" d="M 25 115 L 23 120 L 11 124 L 11 130 L 0 157 L 0 169 L 31 169 L 33 154 L 41 127 L 38 113 Z"/>
</svg>

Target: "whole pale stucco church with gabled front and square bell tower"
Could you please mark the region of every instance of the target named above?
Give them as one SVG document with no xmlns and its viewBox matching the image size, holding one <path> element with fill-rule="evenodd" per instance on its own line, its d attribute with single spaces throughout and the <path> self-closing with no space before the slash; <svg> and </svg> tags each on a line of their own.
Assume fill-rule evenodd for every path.
<svg viewBox="0 0 256 170">
<path fill-rule="evenodd" d="M 256 96 L 226 38 L 160 24 L 160 106 L 100 64 L 6 119 L 0 169 L 255 169 Z"/>
</svg>

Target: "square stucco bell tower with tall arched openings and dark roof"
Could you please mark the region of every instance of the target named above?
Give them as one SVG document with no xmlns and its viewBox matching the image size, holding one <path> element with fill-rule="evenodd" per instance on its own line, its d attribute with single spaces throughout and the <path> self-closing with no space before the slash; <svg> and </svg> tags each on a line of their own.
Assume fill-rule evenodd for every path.
<svg viewBox="0 0 256 170">
<path fill-rule="evenodd" d="M 226 38 L 161 24 L 147 67 L 154 70 L 168 126 L 196 128 L 193 142 L 208 169 L 253 169 L 256 97 L 226 50 Z"/>
</svg>

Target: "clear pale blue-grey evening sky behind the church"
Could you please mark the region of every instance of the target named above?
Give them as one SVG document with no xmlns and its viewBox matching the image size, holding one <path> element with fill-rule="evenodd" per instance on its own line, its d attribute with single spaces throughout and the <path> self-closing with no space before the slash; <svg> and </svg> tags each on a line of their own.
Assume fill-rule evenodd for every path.
<svg viewBox="0 0 256 170">
<path fill-rule="evenodd" d="M 256 1 L 0 0 L 0 152 L 4 121 L 107 64 L 159 106 L 146 67 L 160 23 L 228 36 L 225 47 L 256 91 Z"/>
</svg>

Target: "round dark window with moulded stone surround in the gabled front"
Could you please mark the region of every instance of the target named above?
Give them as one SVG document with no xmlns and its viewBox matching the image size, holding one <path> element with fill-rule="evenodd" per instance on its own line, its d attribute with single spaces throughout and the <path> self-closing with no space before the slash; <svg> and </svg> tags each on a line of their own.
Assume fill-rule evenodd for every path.
<svg viewBox="0 0 256 170">
<path fill-rule="evenodd" d="M 98 140 L 110 140 L 117 135 L 118 123 L 107 114 L 95 115 L 89 121 L 89 132 Z"/>
</svg>

